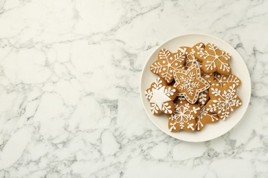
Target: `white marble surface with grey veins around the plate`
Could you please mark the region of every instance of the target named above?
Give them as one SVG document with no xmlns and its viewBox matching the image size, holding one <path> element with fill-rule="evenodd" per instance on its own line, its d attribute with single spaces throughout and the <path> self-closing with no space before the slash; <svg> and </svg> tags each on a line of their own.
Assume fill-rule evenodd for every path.
<svg viewBox="0 0 268 178">
<path fill-rule="evenodd" d="M 268 1 L 0 0 L 0 177 L 268 177 Z M 243 120 L 189 143 L 146 116 L 164 40 L 212 34 L 252 78 Z"/>
</svg>

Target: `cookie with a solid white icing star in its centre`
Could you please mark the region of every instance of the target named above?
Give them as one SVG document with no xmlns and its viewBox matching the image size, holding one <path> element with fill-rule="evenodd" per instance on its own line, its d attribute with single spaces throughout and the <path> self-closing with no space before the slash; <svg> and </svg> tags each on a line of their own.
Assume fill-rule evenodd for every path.
<svg viewBox="0 0 268 178">
<path fill-rule="evenodd" d="M 145 97 L 150 101 L 150 110 L 155 115 L 161 112 L 172 114 L 175 110 L 173 100 L 176 96 L 177 89 L 167 86 L 166 81 L 161 77 L 157 77 L 150 88 L 145 91 Z"/>
</svg>

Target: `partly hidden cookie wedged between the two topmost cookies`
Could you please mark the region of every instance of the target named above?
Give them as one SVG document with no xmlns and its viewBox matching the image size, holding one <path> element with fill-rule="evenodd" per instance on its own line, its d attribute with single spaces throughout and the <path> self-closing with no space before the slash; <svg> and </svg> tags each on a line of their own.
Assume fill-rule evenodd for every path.
<svg viewBox="0 0 268 178">
<path fill-rule="evenodd" d="M 200 51 L 201 49 L 205 49 L 205 44 L 203 44 L 203 42 L 199 42 L 193 47 L 179 47 L 178 51 L 186 54 L 186 67 L 190 67 L 193 64 L 199 64 L 199 67 L 201 68 L 202 63 L 194 56 L 194 53 L 197 53 L 197 51 Z"/>
</svg>

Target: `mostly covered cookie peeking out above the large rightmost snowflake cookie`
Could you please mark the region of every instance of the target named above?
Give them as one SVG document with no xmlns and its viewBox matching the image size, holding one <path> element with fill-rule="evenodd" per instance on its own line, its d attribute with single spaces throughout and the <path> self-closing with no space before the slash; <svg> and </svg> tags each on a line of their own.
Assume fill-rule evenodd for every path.
<svg viewBox="0 0 268 178">
<path fill-rule="evenodd" d="M 236 75 L 232 74 L 221 75 L 219 73 L 216 73 L 214 79 L 218 84 L 220 84 L 220 86 L 225 86 L 225 84 L 228 83 L 236 84 L 236 86 L 241 85 L 241 80 L 238 77 L 236 77 Z"/>
</svg>

